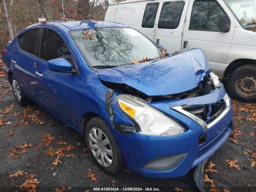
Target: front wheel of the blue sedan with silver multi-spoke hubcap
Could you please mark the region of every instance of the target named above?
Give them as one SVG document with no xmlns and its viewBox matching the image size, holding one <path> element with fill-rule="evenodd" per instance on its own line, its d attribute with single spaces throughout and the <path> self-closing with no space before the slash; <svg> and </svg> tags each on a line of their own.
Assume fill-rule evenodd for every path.
<svg viewBox="0 0 256 192">
<path fill-rule="evenodd" d="M 122 152 L 106 122 L 100 117 L 92 118 L 86 125 L 86 144 L 94 161 L 108 173 L 117 174 L 124 170 Z"/>
</svg>

